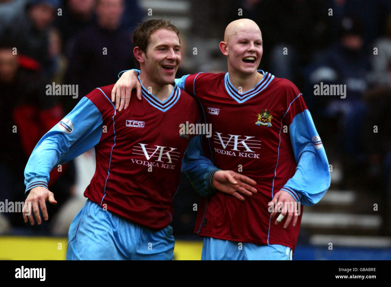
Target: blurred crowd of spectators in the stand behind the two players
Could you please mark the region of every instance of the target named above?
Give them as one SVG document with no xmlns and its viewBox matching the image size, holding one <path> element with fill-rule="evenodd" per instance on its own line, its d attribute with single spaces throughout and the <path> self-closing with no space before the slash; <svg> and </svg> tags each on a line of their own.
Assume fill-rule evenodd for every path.
<svg viewBox="0 0 391 287">
<path fill-rule="evenodd" d="M 23 171 L 45 132 L 95 87 L 136 68 L 132 32 L 154 18 L 142 2 L 0 1 L 0 201 L 25 200 Z M 264 46 L 260 69 L 302 91 L 332 165 L 332 187 L 380 194 L 383 210 L 391 210 L 390 0 L 194 0 L 189 10 L 177 77 L 226 72 L 218 48 L 226 25 L 254 20 Z M 315 95 L 321 82 L 346 85 L 346 98 Z M 78 97 L 47 95 L 52 83 L 78 85 Z M 0 233 L 66 235 L 94 172 L 93 150 L 55 168 L 49 190 L 58 203 L 48 204 L 49 220 L 30 226 L 22 214 L 0 213 Z M 198 202 L 183 176 L 174 234 L 192 234 Z M 382 233 L 389 235 L 387 217 Z"/>
</svg>

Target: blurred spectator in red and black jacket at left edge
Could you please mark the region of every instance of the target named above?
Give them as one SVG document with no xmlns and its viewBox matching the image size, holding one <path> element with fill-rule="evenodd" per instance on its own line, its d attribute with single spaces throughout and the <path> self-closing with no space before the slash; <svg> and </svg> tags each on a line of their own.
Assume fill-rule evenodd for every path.
<svg viewBox="0 0 391 287">
<path fill-rule="evenodd" d="M 56 96 L 46 95 L 47 81 L 39 73 L 38 62 L 14 54 L 13 45 L 6 41 L 0 43 L 0 201 L 24 201 L 24 166 L 42 135 L 62 118 L 63 110 Z M 73 174 L 72 164 L 50 173 L 52 190 L 63 198 L 59 202 L 68 197 Z M 56 212 L 59 205 L 53 207 Z M 24 226 L 19 214 L 5 215 L 12 225 Z"/>
</svg>

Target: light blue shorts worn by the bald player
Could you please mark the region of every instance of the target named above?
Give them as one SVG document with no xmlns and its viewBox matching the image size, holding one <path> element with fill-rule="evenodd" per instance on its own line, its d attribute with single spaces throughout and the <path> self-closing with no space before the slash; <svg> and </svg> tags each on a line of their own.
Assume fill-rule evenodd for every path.
<svg viewBox="0 0 391 287">
<path fill-rule="evenodd" d="M 260 245 L 204 237 L 201 260 L 292 260 L 292 250 L 280 244 Z"/>
</svg>

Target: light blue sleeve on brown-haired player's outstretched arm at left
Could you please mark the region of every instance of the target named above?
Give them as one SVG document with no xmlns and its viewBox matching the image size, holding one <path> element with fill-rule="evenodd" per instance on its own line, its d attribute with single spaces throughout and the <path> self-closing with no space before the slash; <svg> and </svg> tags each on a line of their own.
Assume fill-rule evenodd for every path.
<svg viewBox="0 0 391 287">
<path fill-rule="evenodd" d="M 32 151 L 25 168 L 26 192 L 37 186 L 48 188 L 50 171 L 97 145 L 102 128 L 102 114 L 90 99 L 82 98 Z"/>
</svg>

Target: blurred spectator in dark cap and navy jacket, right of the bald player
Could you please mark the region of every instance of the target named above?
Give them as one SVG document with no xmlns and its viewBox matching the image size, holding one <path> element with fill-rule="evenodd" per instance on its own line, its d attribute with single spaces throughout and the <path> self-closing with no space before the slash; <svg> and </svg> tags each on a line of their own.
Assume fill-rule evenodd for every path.
<svg viewBox="0 0 391 287">
<path fill-rule="evenodd" d="M 346 174 L 353 174 L 350 169 L 360 164 L 363 156 L 360 138 L 366 112 L 363 94 L 368 88 L 370 65 L 362 33 L 358 18 L 343 18 L 339 42 L 316 55 L 305 71 L 306 102 L 314 121 L 320 123 L 319 133 L 332 135 L 323 140 L 336 153 L 335 161 L 344 159 Z M 344 94 L 319 95 L 314 92 L 315 85 L 338 85 Z"/>
</svg>

